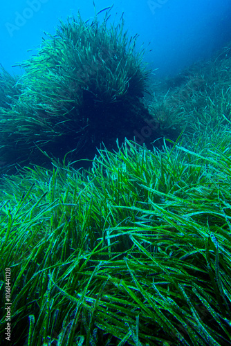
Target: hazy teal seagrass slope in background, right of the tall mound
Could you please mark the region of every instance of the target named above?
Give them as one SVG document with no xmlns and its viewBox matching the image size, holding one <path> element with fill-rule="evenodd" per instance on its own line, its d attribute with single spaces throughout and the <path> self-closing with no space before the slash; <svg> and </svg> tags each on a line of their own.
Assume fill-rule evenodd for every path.
<svg viewBox="0 0 231 346">
<path fill-rule="evenodd" d="M 175 140 L 185 129 L 188 139 L 198 143 L 207 130 L 210 134 L 227 125 L 230 122 L 230 65 L 230 46 L 227 46 L 210 61 L 197 62 L 175 78 L 155 80 L 150 86 L 154 96 L 149 100 L 149 111 L 158 121 L 158 134 Z M 206 136 L 203 143 L 205 140 L 210 142 Z"/>
</svg>

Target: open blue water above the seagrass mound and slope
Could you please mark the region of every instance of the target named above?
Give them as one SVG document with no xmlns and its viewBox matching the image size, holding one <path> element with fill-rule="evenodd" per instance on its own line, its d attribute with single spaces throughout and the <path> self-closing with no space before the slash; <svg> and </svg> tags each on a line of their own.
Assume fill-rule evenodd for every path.
<svg viewBox="0 0 231 346">
<path fill-rule="evenodd" d="M 161 77 L 209 59 L 231 41 L 230 0 L 95 0 L 97 11 L 112 4 L 111 18 L 117 12 L 120 19 L 124 12 L 126 28 L 131 35 L 140 35 L 138 49 L 144 43 L 145 60 Z M 93 0 L 1 3 L 0 63 L 10 73 L 20 73 L 12 66 L 35 53 L 44 32 L 54 34 L 59 19 L 77 10 L 84 19 L 93 17 Z"/>
</svg>

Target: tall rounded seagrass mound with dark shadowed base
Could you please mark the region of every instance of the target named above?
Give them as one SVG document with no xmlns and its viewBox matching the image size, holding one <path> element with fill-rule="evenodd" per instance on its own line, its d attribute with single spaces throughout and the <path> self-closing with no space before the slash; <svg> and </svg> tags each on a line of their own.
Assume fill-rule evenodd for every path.
<svg viewBox="0 0 231 346">
<path fill-rule="evenodd" d="M 77 149 L 78 158 L 87 158 L 100 143 L 113 147 L 116 138 L 133 138 L 144 126 L 143 52 L 136 52 L 137 36 L 127 37 L 122 18 L 108 23 L 110 9 L 102 23 L 80 14 L 60 22 L 37 55 L 21 64 L 20 95 L 0 109 L 3 161 L 37 162 L 39 149 L 59 158 Z"/>
</svg>

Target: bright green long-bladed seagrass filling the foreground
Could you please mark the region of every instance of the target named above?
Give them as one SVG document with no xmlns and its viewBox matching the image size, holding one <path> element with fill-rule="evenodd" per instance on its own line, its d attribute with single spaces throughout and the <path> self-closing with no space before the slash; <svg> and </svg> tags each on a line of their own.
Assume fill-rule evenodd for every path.
<svg viewBox="0 0 231 346">
<path fill-rule="evenodd" d="M 218 160 L 221 149 L 149 152 L 126 141 L 86 171 L 53 162 L 5 176 L 1 266 L 12 270 L 15 342 L 228 345 L 230 156 L 223 149 Z"/>
</svg>

